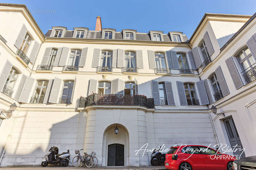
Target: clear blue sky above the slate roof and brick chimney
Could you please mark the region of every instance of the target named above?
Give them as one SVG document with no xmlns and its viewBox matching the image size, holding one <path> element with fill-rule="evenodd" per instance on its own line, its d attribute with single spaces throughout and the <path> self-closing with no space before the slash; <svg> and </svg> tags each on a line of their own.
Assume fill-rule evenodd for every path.
<svg viewBox="0 0 256 170">
<path fill-rule="evenodd" d="M 243 15 L 256 12 L 255 0 L 3 0 L 3 3 L 26 4 L 43 33 L 52 26 L 65 26 L 68 30 L 81 26 L 95 30 L 96 16 L 100 15 L 102 28 L 135 29 L 142 33 L 180 31 L 190 38 L 206 12 Z M 39 10 L 56 12 L 42 13 Z"/>
</svg>

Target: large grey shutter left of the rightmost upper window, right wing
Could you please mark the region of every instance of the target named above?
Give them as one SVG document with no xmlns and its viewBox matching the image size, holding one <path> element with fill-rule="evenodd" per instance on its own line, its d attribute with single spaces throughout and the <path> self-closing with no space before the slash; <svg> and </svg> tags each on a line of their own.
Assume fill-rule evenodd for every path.
<svg viewBox="0 0 256 170">
<path fill-rule="evenodd" d="M 228 71 L 231 75 L 231 78 L 235 84 L 236 89 L 239 89 L 240 87 L 243 86 L 242 79 L 236 69 L 236 65 L 233 61 L 232 57 L 229 57 L 227 60 L 225 60 L 227 66 L 228 66 Z"/>
</svg>

